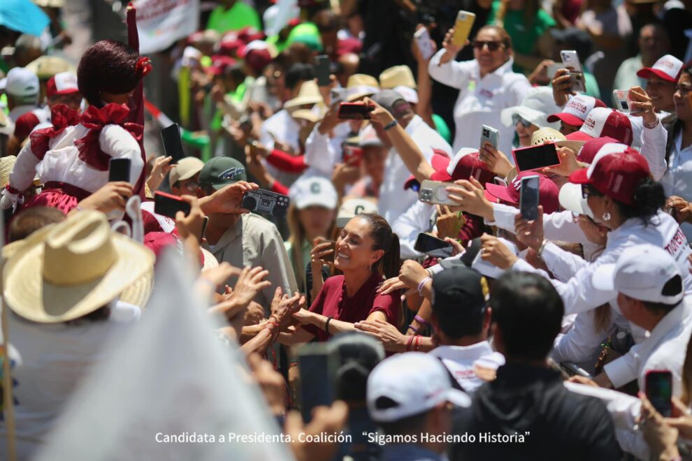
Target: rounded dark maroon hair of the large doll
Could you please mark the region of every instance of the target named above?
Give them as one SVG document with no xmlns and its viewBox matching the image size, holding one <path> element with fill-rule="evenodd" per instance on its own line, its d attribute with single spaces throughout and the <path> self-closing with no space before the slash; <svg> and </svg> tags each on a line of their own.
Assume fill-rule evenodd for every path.
<svg viewBox="0 0 692 461">
<path fill-rule="evenodd" d="M 94 43 L 82 54 L 77 68 L 77 86 L 90 105 L 103 107 L 100 92 L 131 92 L 146 71 L 138 66 L 139 53 L 114 40 Z"/>
</svg>

